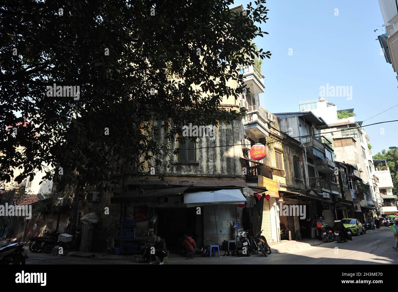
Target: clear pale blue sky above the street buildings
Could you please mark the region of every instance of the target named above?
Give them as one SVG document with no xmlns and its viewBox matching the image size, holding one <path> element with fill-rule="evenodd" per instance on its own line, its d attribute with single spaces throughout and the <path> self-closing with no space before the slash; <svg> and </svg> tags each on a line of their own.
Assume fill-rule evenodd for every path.
<svg viewBox="0 0 398 292">
<path fill-rule="evenodd" d="M 233 6 L 246 8 L 249 2 L 235 1 Z M 269 19 L 258 25 L 269 35 L 254 40 L 258 48 L 272 53 L 261 68 L 266 87 L 260 95 L 263 108 L 298 112 L 298 101 L 317 99 L 326 84 L 352 89 L 351 95 L 326 99 L 338 110 L 354 108 L 355 121 L 398 104 L 396 73 L 380 54 L 377 41 L 385 31 L 377 0 L 268 0 L 265 6 Z M 389 120 L 398 120 L 398 106 L 363 126 Z M 364 129 L 373 155 L 398 147 L 398 122 Z"/>
</svg>

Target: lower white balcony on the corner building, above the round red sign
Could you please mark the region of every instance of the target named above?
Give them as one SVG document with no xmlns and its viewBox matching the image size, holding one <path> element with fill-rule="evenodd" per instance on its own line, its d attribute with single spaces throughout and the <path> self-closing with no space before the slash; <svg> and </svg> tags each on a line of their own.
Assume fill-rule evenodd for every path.
<svg viewBox="0 0 398 292">
<path fill-rule="evenodd" d="M 261 106 L 249 106 L 243 123 L 247 135 L 253 138 L 269 136 L 269 121 L 266 119 L 267 111 Z"/>
</svg>

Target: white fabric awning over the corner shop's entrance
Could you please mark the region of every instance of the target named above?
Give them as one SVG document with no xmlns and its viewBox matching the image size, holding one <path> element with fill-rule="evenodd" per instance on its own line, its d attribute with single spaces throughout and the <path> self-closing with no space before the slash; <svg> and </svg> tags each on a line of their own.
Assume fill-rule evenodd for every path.
<svg viewBox="0 0 398 292">
<path fill-rule="evenodd" d="M 237 189 L 218 191 L 195 191 L 184 193 L 184 204 L 187 207 L 219 204 L 244 204 L 246 198 Z"/>
</svg>

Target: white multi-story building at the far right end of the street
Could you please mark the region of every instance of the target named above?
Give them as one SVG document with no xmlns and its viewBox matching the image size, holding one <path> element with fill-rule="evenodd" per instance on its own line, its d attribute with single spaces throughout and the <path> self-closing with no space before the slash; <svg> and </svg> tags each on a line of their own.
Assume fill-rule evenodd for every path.
<svg viewBox="0 0 398 292">
<path fill-rule="evenodd" d="M 376 171 L 375 181 L 378 184 L 380 195 L 383 200 L 383 206 L 380 208 L 381 215 L 395 215 L 398 213 L 397 196 L 392 193 L 394 187 L 392 183 L 390 168 L 384 159 L 374 159 Z"/>
</svg>

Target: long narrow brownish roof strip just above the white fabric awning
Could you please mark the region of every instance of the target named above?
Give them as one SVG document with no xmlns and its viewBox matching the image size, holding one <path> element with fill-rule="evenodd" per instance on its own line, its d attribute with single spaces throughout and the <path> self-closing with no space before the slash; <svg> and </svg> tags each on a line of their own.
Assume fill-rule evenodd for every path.
<svg viewBox="0 0 398 292">
<path fill-rule="evenodd" d="M 248 188 L 248 184 L 244 180 L 191 180 L 191 179 L 174 179 L 174 180 L 164 180 L 163 182 L 160 179 L 148 179 L 148 180 L 139 180 L 133 178 L 127 182 L 127 184 L 133 185 L 145 185 L 145 184 L 170 184 L 174 186 L 193 186 L 193 187 L 240 187 L 240 188 Z"/>
</svg>

